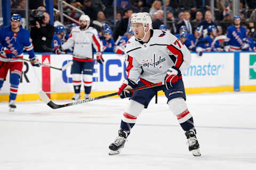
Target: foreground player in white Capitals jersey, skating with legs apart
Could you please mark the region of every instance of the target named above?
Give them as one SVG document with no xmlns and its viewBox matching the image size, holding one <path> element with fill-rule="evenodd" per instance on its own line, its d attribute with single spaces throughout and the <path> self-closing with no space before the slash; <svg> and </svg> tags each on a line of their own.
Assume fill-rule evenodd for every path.
<svg viewBox="0 0 256 170">
<path fill-rule="evenodd" d="M 189 151 L 194 156 L 201 156 L 193 117 L 185 102 L 186 94 L 182 81 L 182 73 L 187 70 L 191 61 L 189 50 L 171 33 L 153 30 L 149 13 L 133 14 L 131 27 L 134 36 L 127 42 L 125 50 L 127 80 L 118 91 L 119 97 L 130 97 L 130 100 L 122 114 L 118 137 L 109 145 L 109 155 L 119 154 L 137 117 L 147 108 L 155 91 L 163 90 L 170 111 L 177 116 L 181 128 L 185 131 Z M 165 86 L 130 92 L 133 88 L 162 81 L 165 81 Z M 169 149 L 171 151 L 172 148 Z"/>
</svg>

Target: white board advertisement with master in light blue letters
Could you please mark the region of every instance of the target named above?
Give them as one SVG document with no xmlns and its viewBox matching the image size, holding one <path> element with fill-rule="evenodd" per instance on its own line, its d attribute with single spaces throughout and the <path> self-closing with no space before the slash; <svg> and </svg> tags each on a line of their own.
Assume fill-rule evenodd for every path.
<svg viewBox="0 0 256 170">
<path fill-rule="evenodd" d="M 234 54 L 191 54 L 191 64 L 183 73 L 185 87 L 218 87 L 234 84 Z"/>
</svg>

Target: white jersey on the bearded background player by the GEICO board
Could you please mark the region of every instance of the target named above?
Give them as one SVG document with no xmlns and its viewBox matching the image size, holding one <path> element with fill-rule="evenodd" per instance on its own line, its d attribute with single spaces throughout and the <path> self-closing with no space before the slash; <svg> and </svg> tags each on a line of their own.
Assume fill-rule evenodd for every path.
<svg viewBox="0 0 256 170">
<path fill-rule="evenodd" d="M 61 45 L 64 50 L 74 47 L 73 57 L 78 61 L 93 58 L 92 46 L 96 52 L 102 52 L 102 44 L 97 30 L 92 27 L 81 30 L 79 26 L 73 27 L 66 43 Z"/>
</svg>

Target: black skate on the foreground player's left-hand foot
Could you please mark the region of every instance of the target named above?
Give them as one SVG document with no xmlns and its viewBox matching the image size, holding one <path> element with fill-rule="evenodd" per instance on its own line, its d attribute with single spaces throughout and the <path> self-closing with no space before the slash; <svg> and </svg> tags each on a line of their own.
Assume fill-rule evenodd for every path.
<svg viewBox="0 0 256 170">
<path fill-rule="evenodd" d="M 116 155 L 120 153 L 120 150 L 124 147 L 127 136 L 127 131 L 122 129 L 118 131 L 118 137 L 108 147 L 110 149 L 109 155 Z"/>
</svg>

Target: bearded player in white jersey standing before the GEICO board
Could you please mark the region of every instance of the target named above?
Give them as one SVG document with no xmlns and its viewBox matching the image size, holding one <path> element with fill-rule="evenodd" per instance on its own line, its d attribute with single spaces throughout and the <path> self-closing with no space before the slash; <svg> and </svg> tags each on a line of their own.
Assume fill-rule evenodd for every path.
<svg viewBox="0 0 256 170">
<path fill-rule="evenodd" d="M 89 16 L 81 15 L 79 18 L 79 24 L 80 26 L 73 27 L 66 43 L 54 48 L 56 54 L 61 54 L 64 50 L 74 47 L 73 65 L 71 66 L 71 74 L 75 91 L 75 96 L 72 98 L 73 100 L 79 100 L 81 98 L 80 89 L 82 84 L 82 74 L 85 91 L 84 97 L 90 98 L 94 65 L 92 45 L 97 51 L 97 61 L 100 64 L 104 62 L 102 58 L 102 45 L 98 37 L 98 32 L 94 28 L 89 27 Z"/>
</svg>

